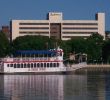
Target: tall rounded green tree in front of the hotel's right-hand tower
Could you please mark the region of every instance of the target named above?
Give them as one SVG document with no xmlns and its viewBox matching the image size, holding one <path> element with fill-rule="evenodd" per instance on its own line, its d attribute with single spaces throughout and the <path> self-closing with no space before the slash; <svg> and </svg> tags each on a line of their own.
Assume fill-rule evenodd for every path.
<svg viewBox="0 0 110 100">
<path fill-rule="evenodd" d="M 86 40 L 88 60 L 99 62 L 102 59 L 103 37 L 97 33 Z"/>
</svg>

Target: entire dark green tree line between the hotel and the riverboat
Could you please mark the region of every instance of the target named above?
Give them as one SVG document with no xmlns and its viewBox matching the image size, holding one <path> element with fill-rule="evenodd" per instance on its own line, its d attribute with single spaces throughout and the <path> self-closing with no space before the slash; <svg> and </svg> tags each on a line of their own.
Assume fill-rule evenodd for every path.
<svg viewBox="0 0 110 100">
<path fill-rule="evenodd" d="M 64 50 L 64 59 L 70 53 L 87 54 L 88 63 L 110 63 L 110 39 L 103 40 L 99 34 L 93 33 L 87 39 L 82 37 L 62 41 L 46 36 L 22 36 L 9 42 L 0 32 L 0 57 L 11 56 L 17 50 L 46 50 L 60 46 Z"/>
</svg>

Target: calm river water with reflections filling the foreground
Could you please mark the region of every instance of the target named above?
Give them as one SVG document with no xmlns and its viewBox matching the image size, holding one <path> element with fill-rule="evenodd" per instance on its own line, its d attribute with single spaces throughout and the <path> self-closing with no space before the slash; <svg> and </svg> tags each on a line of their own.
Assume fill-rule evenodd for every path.
<svg viewBox="0 0 110 100">
<path fill-rule="evenodd" d="M 0 100 L 110 100 L 110 75 L 0 75 Z"/>
</svg>

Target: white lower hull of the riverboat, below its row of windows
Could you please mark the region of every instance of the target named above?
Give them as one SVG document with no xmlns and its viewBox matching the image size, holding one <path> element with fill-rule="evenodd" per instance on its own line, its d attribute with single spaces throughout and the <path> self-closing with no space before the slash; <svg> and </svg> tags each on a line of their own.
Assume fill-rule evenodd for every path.
<svg viewBox="0 0 110 100">
<path fill-rule="evenodd" d="M 74 72 L 77 69 L 86 67 L 86 63 L 79 63 L 73 65 L 63 65 L 56 68 L 11 68 L 3 66 L 0 70 L 1 74 L 64 74 Z"/>
</svg>

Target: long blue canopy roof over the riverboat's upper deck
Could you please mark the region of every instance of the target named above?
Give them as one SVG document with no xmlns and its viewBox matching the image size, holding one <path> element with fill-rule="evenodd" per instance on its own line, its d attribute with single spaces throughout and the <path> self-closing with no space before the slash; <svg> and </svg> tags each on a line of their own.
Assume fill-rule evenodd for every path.
<svg viewBox="0 0 110 100">
<path fill-rule="evenodd" d="M 56 54 L 56 51 L 50 51 L 50 50 L 18 50 L 15 54 Z"/>
</svg>

